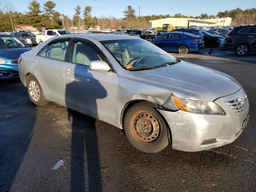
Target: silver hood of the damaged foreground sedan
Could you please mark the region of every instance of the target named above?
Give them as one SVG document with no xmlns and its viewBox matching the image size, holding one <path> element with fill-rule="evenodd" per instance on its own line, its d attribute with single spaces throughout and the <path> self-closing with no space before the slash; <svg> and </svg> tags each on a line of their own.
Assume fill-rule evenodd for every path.
<svg viewBox="0 0 256 192">
<path fill-rule="evenodd" d="M 162 68 L 134 71 L 133 74 L 139 81 L 169 89 L 174 95 L 189 99 L 213 101 L 241 88 L 227 74 L 184 61 Z"/>
</svg>

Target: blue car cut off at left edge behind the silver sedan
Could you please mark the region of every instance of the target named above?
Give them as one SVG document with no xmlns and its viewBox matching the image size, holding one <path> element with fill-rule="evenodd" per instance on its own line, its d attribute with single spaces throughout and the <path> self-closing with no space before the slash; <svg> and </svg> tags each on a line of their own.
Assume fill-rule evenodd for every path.
<svg viewBox="0 0 256 192">
<path fill-rule="evenodd" d="M 0 79 L 19 77 L 18 57 L 31 50 L 30 46 L 14 36 L 0 34 Z"/>
</svg>

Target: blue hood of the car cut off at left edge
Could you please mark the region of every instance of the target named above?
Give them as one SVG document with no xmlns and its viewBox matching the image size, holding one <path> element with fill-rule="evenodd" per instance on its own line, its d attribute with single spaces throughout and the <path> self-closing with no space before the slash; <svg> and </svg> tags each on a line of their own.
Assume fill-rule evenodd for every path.
<svg viewBox="0 0 256 192">
<path fill-rule="evenodd" d="M 20 54 L 29 50 L 31 50 L 30 47 L 0 49 L 0 58 L 2 59 L 17 58 L 20 56 Z"/>
</svg>

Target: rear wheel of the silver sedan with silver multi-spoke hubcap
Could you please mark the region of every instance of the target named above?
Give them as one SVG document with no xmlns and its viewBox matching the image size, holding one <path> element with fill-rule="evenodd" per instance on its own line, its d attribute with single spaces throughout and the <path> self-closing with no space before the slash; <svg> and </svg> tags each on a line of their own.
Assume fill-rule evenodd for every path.
<svg viewBox="0 0 256 192">
<path fill-rule="evenodd" d="M 48 100 L 44 97 L 42 87 L 35 76 L 29 76 L 26 85 L 28 96 L 35 105 L 42 106 L 48 103 Z"/>
</svg>

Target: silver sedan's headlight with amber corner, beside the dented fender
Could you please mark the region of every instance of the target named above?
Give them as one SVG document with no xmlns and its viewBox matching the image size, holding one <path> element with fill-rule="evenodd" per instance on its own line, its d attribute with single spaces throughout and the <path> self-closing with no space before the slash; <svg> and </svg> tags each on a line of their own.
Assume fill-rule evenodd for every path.
<svg viewBox="0 0 256 192">
<path fill-rule="evenodd" d="M 171 97 L 174 104 L 181 110 L 201 113 L 201 114 L 221 114 L 225 115 L 225 112 L 212 101 L 202 101 L 202 100 L 190 100 L 181 99 L 177 97 Z"/>
</svg>

